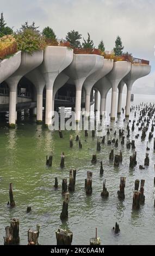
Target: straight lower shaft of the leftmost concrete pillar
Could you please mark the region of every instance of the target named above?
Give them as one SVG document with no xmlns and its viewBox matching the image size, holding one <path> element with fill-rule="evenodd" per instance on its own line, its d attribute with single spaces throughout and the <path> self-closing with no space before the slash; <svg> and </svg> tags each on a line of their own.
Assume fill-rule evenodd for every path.
<svg viewBox="0 0 155 256">
<path fill-rule="evenodd" d="M 9 96 L 9 126 L 14 127 L 16 124 L 16 92 L 10 91 Z"/>
</svg>

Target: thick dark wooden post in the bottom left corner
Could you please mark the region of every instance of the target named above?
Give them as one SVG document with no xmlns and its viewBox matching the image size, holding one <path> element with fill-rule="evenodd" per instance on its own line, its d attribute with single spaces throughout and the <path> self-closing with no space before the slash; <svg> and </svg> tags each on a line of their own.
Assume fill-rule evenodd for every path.
<svg viewBox="0 0 155 256">
<path fill-rule="evenodd" d="M 19 243 L 19 220 L 13 218 L 10 222 L 10 227 L 7 226 L 5 228 L 4 245 L 18 245 Z"/>
</svg>

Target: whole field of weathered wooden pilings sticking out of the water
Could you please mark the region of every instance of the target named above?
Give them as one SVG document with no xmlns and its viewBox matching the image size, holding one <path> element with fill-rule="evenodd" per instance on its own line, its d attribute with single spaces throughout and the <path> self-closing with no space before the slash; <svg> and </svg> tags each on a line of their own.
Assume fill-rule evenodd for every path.
<svg viewBox="0 0 155 256">
<path fill-rule="evenodd" d="M 147 136 L 147 131 L 149 126 L 151 125 L 151 131 L 149 132 L 148 135 L 148 141 L 151 141 L 153 138 L 153 131 L 154 131 L 154 123 L 155 123 L 155 107 L 153 105 L 143 105 L 141 104 L 142 109 L 140 110 L 140 106 L 136 107 L 131 107 L 131 112 L 134 111 L 134 117 L 138 116 L 137 111 L 140 111 L 139 119 L 131 120 L 128 121 L 126 130 L 127 130 L 127 136 L 125 136 L 125 129 L 120 128 L 119 132 L 116 130 L 113 132 L 113 129 L 107 126 L 107 137 L 104 135 L 101 139 L 97 138 L 97 144 L 95 147 L 95 154 L 92 155 L 91 163 L 96 164 L 97 163 L 97 153 L 102 150 L 102 147 L 104 147 L 104 144 L 108 145 L 113 145 L 113 147 L 109 150 L 109 161 L 114 162 L 115 167 L 119 167 L 119 164 L 122 163 L 123 161 L 123 156 L 122 156 L 122 150 L 119 149 L 119 145 L 121 147 L 125 147 L 125 139 L 126 139 L 126 148 L 132 149 L 133 153 L 131 156 L 129 156 L 129 168 L 133 169 L 137 165 L 137 151 L 136 151 L 136 141 L 135 139 L 140 138 L 141 141 L 145 141 L 146 136 Z M 123 110 L 122 110 L 123 111 Z M 147 115 L 147 117 L 146 117 Z M 154 116 L 153 116 L 154 115 Z M 125 121 L 125 120 L 123 120 Z M 130 127 L 130 123 L 132 123 L 132 126 Z M 138 131 L 139 133 L 135 135 L 135 139 L 133 139 L 132 132 L 136 129 L 136 126 L 138 126 Z M 141 135 L 140 135 L 141 132 Z M 113 133 L 113 134 L 112 134 Z M 116 137 L 118 133 L 118 138 Z M 85 137 L 89 136 L 88 131 L 84 132 Z M 59 136 L 60 138 L 63 138 L 63 132 L 59 130 Z M 113 138 L 114 136 L 114 138 Z M 95 137 L 95 131 L 92 131 L 92 138 Z M 76 142 L 79 143 L 79 149 L 82 149 L 82 143 L 81 139 L 79 136 L 76 136 Z M 74 147 L 73 142 L 73 136 L 70 135 L 70 141 L 69 141 L 69 147 L 73 148 Z M 153 141 L 153 150 L 155 150 L 155 138 Z M 114 151 L 117 150 L 117 154 L 114 154 Z M 150 148 L 148 148 L 148 142 L 147 142 L 147 147 L 146 151 L 149 151 Z M 46 166 L 47 167 L 52 167 L 52 162 L 53 162 L 53 153 L 51 153 L 48 156 L 46 156 Z M 150 158 L 148 153 L 146 152 L 146 157 L 144 159 L 144 166 L 147 167 L 150 164 Z M 64 168 L 65 167 L 65 153 L 61 153 L 61 159 L 60 159 L 60 167 Z M 143 170 L 145 169 L 141 164 L 139 165 L 139 169 Z M 103 176 L 104 171 L 106 172 L 106 166 L 104 166 L 103 169 L 103 162 L 100 161 L 100 172 L 98 170 L 98 173 Z M 85 179 L 85 194 L 87 196 L 90 196 L 92 194 L 92 175 L 93 173 L 88 171 L 87 176 Z M 138 210 L 140 208 L 141 204 L 145 203 L 145 196 L 144 196 L 144 184 L 145 180 L 135 180 L 134 184 L 134 191 L 133 191 L 133 203 L 132 203 L 132 209 L 133 210 Z M 60 214 L 60 219 L 62 221 L 67 220 L 69 217 L 69 201 L 70 201 L 70 193 L 75 191 L 75 185 L 76 185 L 76 169 L 71 169 L 69 172 L 69 185 L 67 186 L 67 179 L 62 180 L 62 196 L 64 197 L 63 201 L 63 206 L 62 206 L 62 211 Z M 119 185 L 119 184 L 118 184 Z M 139 189 L 140 185 L 140 189 Z M 119 190 L 117 191 L 117 196 L 120 200 L 125 200 L 125 186 L 126 186 L 126 177 L 121 176 L 120 177 L 120 187 Z M 154 177 L 154 186 L 155 186 L 155 177 Z M 55 189 L 58 188 L 58 178 L 55 177 L 55 183 L 54 183 Z M 108 198 L 109 197 L 109 192 L 107 191 L 106 187 L 106 179 L 103 179 L 103 189 L 101 191 L 101 197 L 103 198 Z M 10 183 L 9 185 L 9 198 L 10 201 L 8 202 L 8 205 L 11 208 L 14 208 L 15 206 L 15 200 L 13 196 L 13 184 Z M 154 200 L 154 206 L 155 206 L 155 200 Z M 27 207 L 27 213 L 31 211 L 30 206 Z M 119 234 L 120 228 L 119 224 L 117 222 L 115 223 L 115 227 L 113 228 L 113 231 L 115 234 Z M 40 227 L 39 225 L 36 226 L 36 230 L 28 229 L 28 245 L 39 245 L 38 238 L 39 238 L 39 232 L 40 232 Z M 72 237 L 73 233 L 70 230 L 64 230 L 64 229 L 58 229 L 56 232 L 56 239 L 57 239 L 57 245 L 71 245 L 72 243 Z M 4 236 L 4 245 L 18 245 L 20 243 L 20 237 L 19 237 L 19 220 L 16 218 L 13 218 L 10 221 L 10 226 L 7 226 L 5 228 L 5 236 Z M 96 236 L 93 239 L 90 239 L 90 245 L 100 245 L 100 237 L 97 237 L 97 229 L 96 229 Z"/>
</svg>

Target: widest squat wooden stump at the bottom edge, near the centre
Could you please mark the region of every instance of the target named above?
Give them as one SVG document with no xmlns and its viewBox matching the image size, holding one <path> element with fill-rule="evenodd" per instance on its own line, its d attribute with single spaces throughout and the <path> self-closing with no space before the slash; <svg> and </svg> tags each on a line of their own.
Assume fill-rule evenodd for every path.
<svg viewBox="0 0 155 256">
<path fill-rule="evenodd" d="M 66 229 L 57 229 L 55 231 L 57 245 L 71 245 L 73 239 L 73 233 L 70 230 Z"/>
</svg>

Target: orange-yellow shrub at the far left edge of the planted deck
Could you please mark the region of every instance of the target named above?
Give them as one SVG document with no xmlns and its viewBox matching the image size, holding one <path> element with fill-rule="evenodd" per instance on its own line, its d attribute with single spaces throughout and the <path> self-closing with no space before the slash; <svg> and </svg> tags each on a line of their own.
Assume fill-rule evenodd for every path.
<svg viewBox="0 0 155 256">
<path fill-rule="evenodd" d="M 0 59 L 4 59 L 17 52 L 16 40 L 12 35 L 0 38 Z"/>
</svg>

